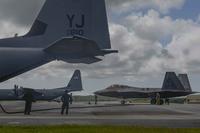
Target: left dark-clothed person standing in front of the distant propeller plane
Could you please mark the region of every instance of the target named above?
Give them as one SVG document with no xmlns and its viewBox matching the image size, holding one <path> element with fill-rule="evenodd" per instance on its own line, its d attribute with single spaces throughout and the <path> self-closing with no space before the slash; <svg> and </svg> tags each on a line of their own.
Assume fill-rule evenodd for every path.
<svg viewBox="0 0 200 133">
<path fill-rule="evenodd" d="M 25 109 L 24 109 L 24 114 L 25 115 L 30 115 L 31 113 L 31 108 L 32 108 L 32 103 L 33 103 L 33 95 L 31 92 L 27 92 L 24 94 L 23 99 L 25 100 Z"/>
</svg>

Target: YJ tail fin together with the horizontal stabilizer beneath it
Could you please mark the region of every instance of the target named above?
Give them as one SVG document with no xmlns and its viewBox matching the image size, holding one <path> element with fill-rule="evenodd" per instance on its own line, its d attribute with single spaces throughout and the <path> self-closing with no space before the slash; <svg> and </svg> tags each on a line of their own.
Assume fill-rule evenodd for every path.
<svg viewBox="0 0 200 133">
<path fill-rule="evenodd" d="M 47 0 L 25 37 L 42 35 L 44 52 L 68 63 L 91 64 L 111 48 L 104 0 Z M 48 45 L 46 45 L 48 44 Z"/>
</svg>

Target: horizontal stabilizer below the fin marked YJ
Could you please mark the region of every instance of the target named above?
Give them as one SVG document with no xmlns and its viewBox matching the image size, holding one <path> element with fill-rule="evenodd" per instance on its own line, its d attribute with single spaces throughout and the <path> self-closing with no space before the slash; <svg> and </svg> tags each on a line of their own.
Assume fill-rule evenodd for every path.
<svg viewBox="0 0 200 133">
<path fill-rule="evenodd" d="M 57 60 L 85 64 L 101 61 L 97 56 L 118 52 L 115 50 L 101 50 L 94 41 L 78 36 L 62 38 L 44 49 L 44 51 Z"/>
</svg>

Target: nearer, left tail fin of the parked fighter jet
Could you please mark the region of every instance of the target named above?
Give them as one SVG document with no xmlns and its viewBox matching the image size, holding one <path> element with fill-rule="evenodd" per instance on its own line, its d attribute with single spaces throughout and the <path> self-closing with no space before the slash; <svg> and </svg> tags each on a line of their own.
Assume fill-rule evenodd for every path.
<svg viewBox="0 0 200 133">
<path fill-rule="evenodd" d="M 165 75 L 162 90 L 183 90 L 184 87 L 181 81 L 178 79 L 175 72 L 167 72 Z"/>
</svg>

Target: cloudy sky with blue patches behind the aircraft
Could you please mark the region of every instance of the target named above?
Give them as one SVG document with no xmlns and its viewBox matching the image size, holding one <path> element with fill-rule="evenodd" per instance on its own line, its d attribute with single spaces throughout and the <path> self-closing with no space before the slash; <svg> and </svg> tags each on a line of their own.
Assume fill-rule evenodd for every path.
<svg viewBox="0 0 200 133">
<path fill-rule="evenodd" d="M 0 37 L 24 34 L 44 0 L 0 0 Z M 161 87 L 166 71 L 188 73 L 193 90 L 200 91 L 200 1 L 106 0 L 113 49 L 92 65 L 53 62 L 6 81 L 32 88 L 62 87 L 75 69 L 83 74 L 85 91 L 111 84 Z"/>
</svg>

